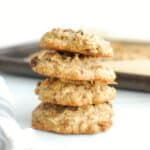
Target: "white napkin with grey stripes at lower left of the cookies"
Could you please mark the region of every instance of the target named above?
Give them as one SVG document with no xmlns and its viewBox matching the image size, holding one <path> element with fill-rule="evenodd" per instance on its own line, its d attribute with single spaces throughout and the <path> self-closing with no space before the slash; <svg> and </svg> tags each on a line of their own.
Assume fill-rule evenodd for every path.
<svg viewBox="0 0 150 150">
<path fill-rule="evenodd" d="M 0 76 L 0 150 L 37 150 L 34 139 L 33 129 L 16 122 L 13 96 Z"/>
</svg>

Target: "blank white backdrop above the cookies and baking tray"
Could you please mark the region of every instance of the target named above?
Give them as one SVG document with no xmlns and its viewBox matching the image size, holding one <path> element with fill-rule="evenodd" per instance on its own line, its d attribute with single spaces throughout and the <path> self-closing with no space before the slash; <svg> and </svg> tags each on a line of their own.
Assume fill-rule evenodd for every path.
<svg viewBox="0 0 150 150">
<path fill-rule="evenodd" d="M 149 14 L 148 0 L 1 0 L 0 46 L 39 39 L 53 27 L 150 40 Z"/>
</svg>

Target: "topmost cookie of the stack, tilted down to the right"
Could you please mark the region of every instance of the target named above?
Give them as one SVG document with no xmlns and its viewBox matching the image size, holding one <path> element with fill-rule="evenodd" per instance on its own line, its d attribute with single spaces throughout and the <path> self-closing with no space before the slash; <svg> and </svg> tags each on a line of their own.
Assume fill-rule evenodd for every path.
<svg viewBox="0 0 150 150">
<path fill-rule="evenodd" d="M 40 47 L 88 56 L 111 57 L 113 55 L 109 42 L 99 36 L 72 29 L 56 28 L 47 32 L 41 38 Z"/>
</svg>

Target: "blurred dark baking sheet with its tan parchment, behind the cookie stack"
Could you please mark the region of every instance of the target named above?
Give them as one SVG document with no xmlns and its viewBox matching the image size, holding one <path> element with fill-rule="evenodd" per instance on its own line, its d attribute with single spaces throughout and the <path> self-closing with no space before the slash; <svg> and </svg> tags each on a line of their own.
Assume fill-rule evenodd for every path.
<svg viewBox="0 0 150 150">
<path fill-rule="evenodd" d="M 150 72 L 150 44 L 113 40 L 111 42 L 115 53 L 117 51 L 122 51 L 123 48 L 123 53 L 125 50 L 128 51 L 128 53 L 121 55 L 121 58 L 116 53 L 116 57 L 114 57 L 114 59 L 105 61 L 106 65 L 111 65 L 116 70 L 118 83 L 116 87 L 130 90 L 150 91 L 150 74 L 143 71 L 144 69 L 147 72 Z M 37 75 L 31 70 L 27 60 L 29 54 L 38 51 L 39 49 L 38 42 L 30 42 L 16 46 L 0 48 L 0 70 L 17 75 L 42 78 L 40 75 Z M 139 49 L 144 49 L 146 53 L 145 57 L 147 58 L 139 53 Z M 129 54 L 129 52 L 131 53 Z M 138 53 L 140 55 L 138 55 Z M 128 60 L 127 55 L 130 56 Z M 141 57 L 138 58 L 137 56 Z M 138 59 L 135 60 L 135 58 Z M 132 67 L 136 69 L 138 73 Z"/>
</svg>

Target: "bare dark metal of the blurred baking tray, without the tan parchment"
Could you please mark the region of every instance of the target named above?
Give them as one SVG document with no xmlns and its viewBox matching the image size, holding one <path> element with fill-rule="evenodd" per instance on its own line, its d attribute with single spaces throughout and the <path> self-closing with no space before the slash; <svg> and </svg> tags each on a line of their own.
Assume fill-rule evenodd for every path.
<svg viewBox="0 0 150 150">
<path fill-rule="evenodd" d="M 31 70 L 27 60 L 27 57 L 31 53 L 39 49 L 38 42 L 0 48 L 0 71 L 15 75 L 42 78 L 42 76 Z M 116 72 L 116 74 L 117 88 L 150 92 L 150 76 L 126 72 Z"/>
</svg>

